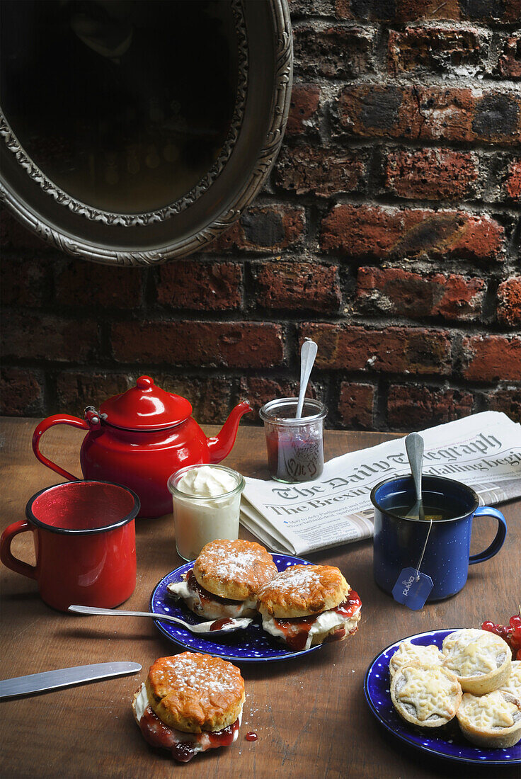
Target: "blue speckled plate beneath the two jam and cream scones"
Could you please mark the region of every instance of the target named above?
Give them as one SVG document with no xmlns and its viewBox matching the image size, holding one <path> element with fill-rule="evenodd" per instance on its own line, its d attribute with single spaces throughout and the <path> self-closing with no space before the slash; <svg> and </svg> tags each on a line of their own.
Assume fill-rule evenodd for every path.
<svg viewBox="0 0 521 779">
<path fill-rule="evenodd" d="M 273 554 L 273 562 L 280 571 L 288 566 L 310 566 L 311 562 L 303 560 L 300 557 L 291 555 Z M 183 605 L 182 601 L 174 601 L 174 598 L 168 593 L 167 584 L 180 582 L 184 573 L 193 568 L 193 562 L 187 562 L 184 566 L 176 568 L 171 573 L 167 573 L 163 579 L 154 587 L 150 597 L 150 611 L 157 614 L 169 614 L 174 617 L 181 617 L 185 622 L 195 625 L 197 622 L 204 622 L 198 616 L 189 611 Z M 224 660 L 235 662 L 252 663 L 274 660 L 290 660 L 292 657 L 300 657 L 302 654 L 314 652 L 320 649 L 322 644 L 315 647 L 294 652 L 285 644 L 278 643 L 273 636 L 262 630 L 260 620 L 252 622 L 245 630 L 238 633 L 232 633 L 231 636 L 220 636 L 219 640 L 211 640 L 208 636 L 198 636 L 196 633 L 190 633 L 189 630 L 174 625 L 173 622 L 161 622 L 155 619 L 157 627 L 164 636 L 167 636 L 174 643 L 181 647 L 192 650 L 192 652 L 206 652 L 207 654 L 223 657 Z"/>
</svg>

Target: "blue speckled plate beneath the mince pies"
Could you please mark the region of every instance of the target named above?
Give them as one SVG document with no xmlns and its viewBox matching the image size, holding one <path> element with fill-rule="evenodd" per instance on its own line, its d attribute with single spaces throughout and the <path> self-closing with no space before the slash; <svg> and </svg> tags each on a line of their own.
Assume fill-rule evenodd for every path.
<svg viewBox="0 0 521 779">
<path fill-rule="evenodd" d="M 485 749 L 466 741 L 458 731 L 455 731 L 450 738 L 446 735 L 443 737 L 420 733 L 396 714 L 389 692 L 389 660 L 398 649 L 400 642 L 410 641 L 423 647 L 434 643 L 441 650 L 445 636 L 458 629 L 431 630 L 429 633 L 407 636 L 392 643 L 390 647 L 378 654 L 369 666 L 364 679 L 364 693 L 369 708 L 384 728 L 393 733 L 396 738 L 400 738 L 400 741 L 445 760 L 457 760 L 459 763 L 484 763 L 488 766 L 521 763 L 521 742 L 508 749 Z"/>
</svg>

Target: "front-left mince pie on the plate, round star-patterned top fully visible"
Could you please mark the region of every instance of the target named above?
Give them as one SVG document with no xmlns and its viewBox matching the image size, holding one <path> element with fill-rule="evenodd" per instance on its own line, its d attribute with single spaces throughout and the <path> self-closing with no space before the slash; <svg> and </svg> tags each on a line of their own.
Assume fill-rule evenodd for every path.
<svg viewBox="0 0 521 779">
<path fill-rule="evenodd" d="M 456 675 L 442 666 L 406 665 L 391 682 L 391 700 L 400 717 L 421 728 L 440 728 L 456 716 L 461 702 Z"/>
</svg>

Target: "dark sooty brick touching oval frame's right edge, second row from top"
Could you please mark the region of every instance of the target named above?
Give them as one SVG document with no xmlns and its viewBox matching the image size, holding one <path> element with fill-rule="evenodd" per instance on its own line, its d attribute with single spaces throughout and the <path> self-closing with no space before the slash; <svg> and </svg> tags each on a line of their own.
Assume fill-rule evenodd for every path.
<svg viewBox="0 0 521 779">
<path fill-rule="evenodd" d="M 294 26 L 294 69 L 305 78 L 349 79 L 372 70 L 375 33 L 361 27 Z"/>
</svg>

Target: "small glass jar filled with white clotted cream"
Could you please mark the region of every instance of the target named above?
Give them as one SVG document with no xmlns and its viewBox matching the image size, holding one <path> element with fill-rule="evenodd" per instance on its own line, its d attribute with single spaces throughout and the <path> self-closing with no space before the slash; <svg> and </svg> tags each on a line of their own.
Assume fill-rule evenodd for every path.
<svg viewBox="0 0 521 779">
<path fill-rule="evenodd" d="M 178 555 L 193 560 L 216 538 L 238 538 L 245 480 L 224 465 L 188 465 L 167 482 L 174 503 Z"/>
</svg>

